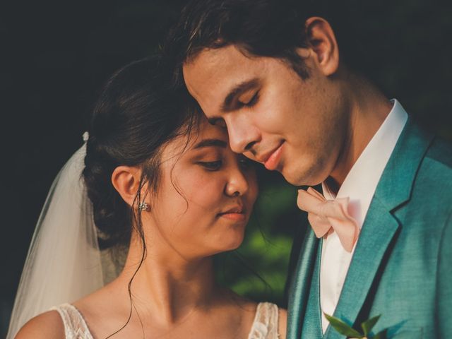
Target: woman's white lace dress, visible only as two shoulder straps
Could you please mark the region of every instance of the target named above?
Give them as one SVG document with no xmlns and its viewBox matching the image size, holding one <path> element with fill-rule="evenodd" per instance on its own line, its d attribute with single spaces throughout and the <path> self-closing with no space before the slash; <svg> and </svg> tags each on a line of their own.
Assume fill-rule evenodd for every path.
<svg viewBox="0 0 452 339">
<path fill-rule="evenodd" d="M 71 304 L 52 307 L 58 311 L 64 323 L 66 339 L 93 339 L 81 313 Z M 269 302 L 257 305 L 256 316 L 248 339 L 278 339 L 278 306 Z"/>
</svg>

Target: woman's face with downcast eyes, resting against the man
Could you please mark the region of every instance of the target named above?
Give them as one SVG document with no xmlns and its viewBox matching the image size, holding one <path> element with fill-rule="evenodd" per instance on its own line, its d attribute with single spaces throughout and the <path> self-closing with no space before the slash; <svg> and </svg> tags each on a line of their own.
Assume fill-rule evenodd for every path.
<svg viewBox="0 0 452 339">
<path fill-rule="evenodd" d="M 236 249 L 258 192 L 254 167 L 230 149 L 227 131 L 201 121 L 196 136 L 162 150 L 160 185 L 148 213 L 160 239 L 184 258 Z"/>
</svg>

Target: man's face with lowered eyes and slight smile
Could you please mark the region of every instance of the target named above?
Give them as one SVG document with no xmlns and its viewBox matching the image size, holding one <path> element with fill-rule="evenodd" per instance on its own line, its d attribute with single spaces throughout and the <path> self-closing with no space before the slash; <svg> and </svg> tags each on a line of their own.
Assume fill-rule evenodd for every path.
<svg viewBox="0 0 452 339">
<path fill-rule="evenodd" d="M 227 127 L 234 152 L 291 184 L 314 185 L 338 160 L 346 105 L 319 56 L 309 49 L 299 54 L 307 80 L 280 59 L 248 57 L 234 45 L 203 50 L 184 65 L 184 79 L 210 122 Z"/>
</svg>

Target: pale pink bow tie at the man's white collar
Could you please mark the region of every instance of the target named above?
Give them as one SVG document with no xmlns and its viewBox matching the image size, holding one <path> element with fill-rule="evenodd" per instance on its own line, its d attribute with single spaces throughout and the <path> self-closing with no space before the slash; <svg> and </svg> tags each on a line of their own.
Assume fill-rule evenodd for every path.
<svg viewBox="0 0 452 339">
<path fill-rule="evenodd" d="M 316 237 L 336 232 L 345 251 L 351 252 L 358 239 L 359 227 L 348 213 L 348 198 L 326 200 L 318 191 L 309 187 L 299 189 L 297 205 L 308 213 L 308 220 Z"/>
</svg>

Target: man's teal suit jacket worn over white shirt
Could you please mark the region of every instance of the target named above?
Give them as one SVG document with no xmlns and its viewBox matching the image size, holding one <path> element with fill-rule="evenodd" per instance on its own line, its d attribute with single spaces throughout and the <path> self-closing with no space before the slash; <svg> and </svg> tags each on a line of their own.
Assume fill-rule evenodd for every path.
<svg viewBox="0 0 452 339">
<path fill-rule="evenodd" d="M 321 239 L 309 229 L 289 290 L 287 338 L 323 335 L 319 301 Z M 355 328 L 381 314 L 374 334 L 452 338 L 452 147 L 408 119 L 384 169 L 334 316 Z"/>
</svg>

